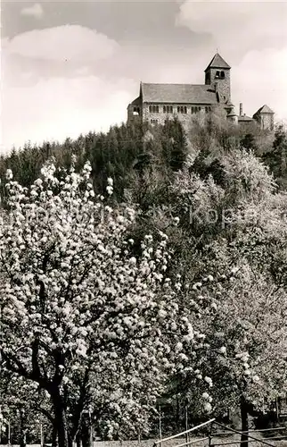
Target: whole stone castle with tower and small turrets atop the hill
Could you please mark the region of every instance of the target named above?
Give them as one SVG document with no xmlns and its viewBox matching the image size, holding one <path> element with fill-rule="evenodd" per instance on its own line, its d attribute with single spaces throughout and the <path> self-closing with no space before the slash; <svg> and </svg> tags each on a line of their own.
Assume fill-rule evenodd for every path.
<svg viewBox="0 0 287 447">
<path fill-rule="evenodd" d="M 194 84 L 150 84 L 141 82 L 140 94 L 127 106 L 127 122 L 138 120 L 151 124 L 163 124 L 173 115 L 187 124 L 191 115 L 220 108 L 226 119 L 244 126 L 258 125 L 262 130 L 274 128 L 274 112 L 268 105 L 262 105 L 252 117 L 243 114 L 242 104 L 239 115 L 234 112 L 230 86 L 231 67 L 218 55 L 212 58 L 205 69 L 205 83 Z"/>
</svg>

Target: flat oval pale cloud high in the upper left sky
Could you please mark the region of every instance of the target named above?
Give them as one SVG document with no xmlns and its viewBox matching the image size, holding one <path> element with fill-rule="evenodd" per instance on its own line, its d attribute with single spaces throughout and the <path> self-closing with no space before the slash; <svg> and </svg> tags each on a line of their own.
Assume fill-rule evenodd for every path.
<svg viewBox="0 0 287 447">
<path fill-rule="evenodd" d="M 111 57 L 119 50 L 119 45 L 96 30 L 80 25 L 63 25 L 6 38 L 3 48 L 10 55 L 90 63 Z"/>
</svg>

